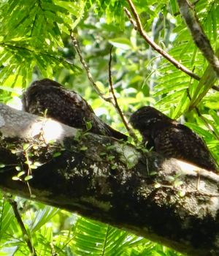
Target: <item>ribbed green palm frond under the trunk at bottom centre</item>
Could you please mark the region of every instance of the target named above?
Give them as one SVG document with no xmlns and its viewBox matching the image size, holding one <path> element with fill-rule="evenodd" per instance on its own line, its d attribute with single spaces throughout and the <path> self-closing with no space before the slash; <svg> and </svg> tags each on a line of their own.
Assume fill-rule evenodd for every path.
<svg viewBox="0 0 219 256">
<path fill-rule="evenodd" d="M 73 251 L 77 255 L 126 255 L 131 253 L 131 247 L 145 242 L 110 225 L 79 218 L 74 228 Z"/>
</svg>

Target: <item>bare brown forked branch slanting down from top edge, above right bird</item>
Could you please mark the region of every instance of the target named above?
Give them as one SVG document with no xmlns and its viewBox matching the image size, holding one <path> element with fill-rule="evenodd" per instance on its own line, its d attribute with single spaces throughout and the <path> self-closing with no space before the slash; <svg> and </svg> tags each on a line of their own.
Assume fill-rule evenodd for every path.
<svg viewBox="0 0 219 256">
<path fill-rule="evenodd" d="M 162 48 L 160 48 L 159 45 L 157 45 L 152 39 L 150 39 L 150 37 L 147 36 L 147 33 L 144 31 L 143 27 L 142 27 L 142 23 L 141 20 L 139 18 L 139 15 L 137 14 L 137 10 L 134 7 L 134 4 L 131 0 L 127 0 L 128 4 L 131 8 L 131 12 L 134 15 L 134 19 L 131 17 L 131 13 L 127 10 L 126 7 L 124 7 L 124 11 L 126 12 L 126 15 L 128 16 L 128 19 L 130 20 L 130 22 L 132 23 L 132 25 L 134 26 L 134 29 L 136 29 L 137 31 L 139 31 L 139 34 L 145 39 L 145 41 L 154 49 L 156 50 L 158 53 L 160 53 L 162 56 L 164 56 L 165 59 L 167 59 L 168 61 L 170 61 L 172 64 L 174 64 L 175 67 L 177 67 L 177 69 L 182 70 L 183 72 L 185 72 L 187 75 L 190 75 L 191 78 L 194 78 L 196 80 L 200 80 L 199 75 L 194 74 L 193 72 L 191 72 L 190 69 L 188 69 L 187 67 L 183 66 L 182 64 L 180 64 L 179 61 L 177 61 L 176 59 L 174 59 L 171 55 L 169 55 L 169 53 L 166 53 L 165 50 L 163 50 Z"/>
</svg>

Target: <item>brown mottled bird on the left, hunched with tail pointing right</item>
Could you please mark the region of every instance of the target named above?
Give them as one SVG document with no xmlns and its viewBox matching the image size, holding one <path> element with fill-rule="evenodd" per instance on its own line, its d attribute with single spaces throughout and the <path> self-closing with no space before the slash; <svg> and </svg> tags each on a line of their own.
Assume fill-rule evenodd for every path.
<svg viewBox="0 0 219 256">
<path fill-rule="evenodd" d="M 87 131 L 90 123 L 89 132 L 118 140 L 128 138 L 101 121 L 79 94 L 48 78 L 31 83 L 23 93 L 22 103 L 23 111 L 37 116 L 45 116 L 46 113 L 47 117 L 82 131 Z"/>
</svg>

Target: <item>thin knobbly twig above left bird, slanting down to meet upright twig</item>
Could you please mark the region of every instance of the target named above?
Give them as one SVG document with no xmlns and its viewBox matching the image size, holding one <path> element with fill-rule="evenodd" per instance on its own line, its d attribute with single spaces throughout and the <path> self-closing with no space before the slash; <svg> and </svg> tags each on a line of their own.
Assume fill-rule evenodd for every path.
<svg viewBox="0 0 219 256">
<path fill-rule="evenodd" d="M 72 31 L 70 31 L 70 37 L 72 39 L 72 43 L 74 45 L 74 49 L 77 51 L 77 54 L 78 54 L 78 56 L 80 58 L 80 63 L 84 67 L 84 69 L 85 69 L 85 71 L 87 73 L 88 79 L 90 80 L 90 82 L 91 82 L 93 88 L 95 89 L 96 93 L 99 94 L 99 96 L 102 99 L 104 99 L 106 102 L 110 102 L 111 101 L 110 97 L 105 97 L 104 94 L 102 94 L 101 91 L 99 90 L 99 88 L 96 85 L 96 83 L 94 82 L 93 77 L 92 77 L 91 72 L 90 72 L 90 68 L 88 67 L 88 64 L 86 64 L 85 60 L 82 57 L 82 53 L 81 53 L 81 50 L 80 50 L 80 45 L 77 43 L 77 39 L 74 37 Z"/>
</svg>

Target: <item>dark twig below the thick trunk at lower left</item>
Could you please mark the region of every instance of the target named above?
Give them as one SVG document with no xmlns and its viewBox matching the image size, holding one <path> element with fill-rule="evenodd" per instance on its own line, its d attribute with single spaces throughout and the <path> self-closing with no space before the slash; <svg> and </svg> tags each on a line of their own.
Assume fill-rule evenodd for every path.
<svg viewBox="0 0 219 256">
<path fill-rule="evenodd" d="M 9 204 L 12 206 L 12 209 L 13 209 L 14 214 L 15 214 L 15 218 L 17 219 L 18 225 L 20 226 L 20 229 L 22 230 L 23 238 L 26 241 L 26 244 L 28 246 L 28 249 L 31 252 L 31 255 L 37 256 L 37 252 L 36 252 L 32 242 L 31 242 L 31 238 L 28 235 L 28 232 L 26 231 L 26 227 L 23 224 L 23 220 L 20 217 L 17 202 L 15 200 L 12 200 L 11 198 L 8 198 L 8 200 L 9 200 Z"/>
</svg>

